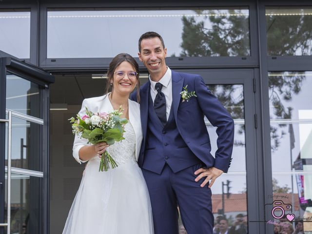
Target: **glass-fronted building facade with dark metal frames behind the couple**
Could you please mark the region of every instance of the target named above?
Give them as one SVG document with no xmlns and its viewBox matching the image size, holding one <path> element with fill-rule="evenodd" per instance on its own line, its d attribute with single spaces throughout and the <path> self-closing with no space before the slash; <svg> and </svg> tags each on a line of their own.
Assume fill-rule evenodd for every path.
<svg viewBox="0 0 312 234">
<path fill-rule="evenodd" d="M 68 118 L 104 94 L 114 56 L 137 59 L 146 31 L 163 37 L 171 69 L 201 75 L 234 118 L 215 217 L 270 234 L 270 220 L 293 214 L 291 226 L 312 232 L 311 1 L 2 0 L 0 234 L 62 232 L 84 169 Z"/>
</svg>

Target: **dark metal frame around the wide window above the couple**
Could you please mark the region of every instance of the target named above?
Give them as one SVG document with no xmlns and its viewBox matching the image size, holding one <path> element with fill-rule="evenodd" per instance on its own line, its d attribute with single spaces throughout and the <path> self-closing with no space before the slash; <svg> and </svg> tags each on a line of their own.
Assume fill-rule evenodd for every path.
<svg viewBox="0 0 312 234">
<path fill-rule="evenodd" d="M 120 4 L 116 2 L 106 2 L 106 3 L 94 3 L 92 4 L 92 8 L 90 8 L 90 3 L 77 3 L 75 6 L 73 4 L 63 3 L 43 3 L 40 6 L 40 67 L 47 68 L 50 70 L 61 70 L 61 69 L 71 69 L 71 70 L 103 70 L 108 68 L 108 64 L 112 58 L 68 58 L 68 59 L 47 59 L 47 12 L 49 8 L 60 8 L 64 10 L 67 8 L 71 9 L 94 9 L 94 8 L 119 8 L 120 10 L 133 9 L 133 8 L 148 8 L 148 9 L 187 9 L 188 7 L 235 7 L 242 6 L 249 8 L 249 19 L 250 19 L 250 49 L 251 56 L 244 57 L 168 57 L 166 59 L 166 63 L 170 67 L 175 68 L 218 68 L 218 67 L 257 67 L 258 63 L 258 49 L 257 49 L 257 31 L 255 27 L 251 27 L 251 25 L 256 24 L 256 14 L 255 13 L 255 4 L 253 2 L 249 2 L 247 0 L 242 0 L 241 2 L 231 2 L 224 1 L 222 4 L 215 2 L 179 2 L 178 5 L 174 2 L 160 2 L 155 3 L 155 5 L 151 6 L 150 3 L 140 2 L 123 2 L 122 7 Z M 138 61 L 138 59 L 137 59 Z M 138 61 L 139 62 L 139 61 Z M 144 67 L 141 62 L 139 62 L 140 67 Z"/>
</svg>

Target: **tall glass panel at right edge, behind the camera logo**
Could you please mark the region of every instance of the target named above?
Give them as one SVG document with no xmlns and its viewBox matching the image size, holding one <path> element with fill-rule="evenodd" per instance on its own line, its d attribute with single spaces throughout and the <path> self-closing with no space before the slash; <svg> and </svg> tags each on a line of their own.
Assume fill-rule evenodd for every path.
<svg viewBox="0 0 312 234">
<path fill-rule="evenodd" d="M 304 231 L 312 231 L 305 222 L 312 210 L 311 87 L 312 72 L 269 73 L 272 198 L 291 204 L 289 212 L 304 221 Z"/>
</svg>

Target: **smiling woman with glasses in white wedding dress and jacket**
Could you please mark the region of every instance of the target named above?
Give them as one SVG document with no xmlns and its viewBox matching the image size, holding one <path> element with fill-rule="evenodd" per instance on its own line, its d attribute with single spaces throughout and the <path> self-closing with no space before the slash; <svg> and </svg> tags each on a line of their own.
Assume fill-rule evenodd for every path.
<svg viewBox="0 0 312 234">
<path fill-rule="evenodd" d="M 138 64 L 130 55 L 119 54 L 109 64 L 107 77 L 112 92 L 84 99 L 79 116 L 85 115 L 86 107 L 98 113 L 122 105 L 122 117 L 129 120 L 124 127 L 125 139 L 108 146 L 87 144 L 86 139 L 75 137 L 73 156 L 80 164 L 88 163 L 63 234 L 153 234 L 150 198 L 137 165 L 142 140 L 139 104 L 129 99 L 139 87 Z M 98 172 L 99 155 L 105 150 L 118 167 Z"/>
</svg>

